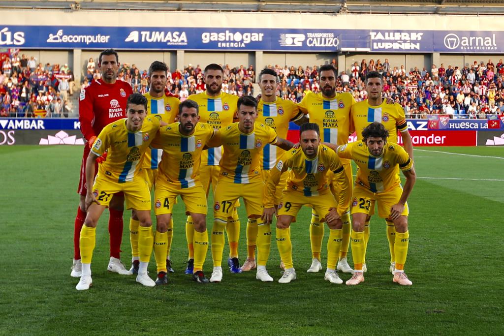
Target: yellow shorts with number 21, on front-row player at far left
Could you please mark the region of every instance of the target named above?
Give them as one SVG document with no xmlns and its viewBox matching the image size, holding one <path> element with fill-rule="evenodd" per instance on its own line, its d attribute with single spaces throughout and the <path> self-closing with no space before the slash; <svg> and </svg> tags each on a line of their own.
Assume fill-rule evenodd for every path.
<svg viewBox="0 0 504 336">
<path fill-rule="evenodd" d="M 145 180 L 144 171 L 133 177 L 133 181 L 117 182 L 107 175 L 98 173 L 93 184 L 93 193 L 100 205 L 108 207 L 112 196 L 117 192 L 124 193 L 126 209 L 151 210 L 151 192 Z"/>
</svg>

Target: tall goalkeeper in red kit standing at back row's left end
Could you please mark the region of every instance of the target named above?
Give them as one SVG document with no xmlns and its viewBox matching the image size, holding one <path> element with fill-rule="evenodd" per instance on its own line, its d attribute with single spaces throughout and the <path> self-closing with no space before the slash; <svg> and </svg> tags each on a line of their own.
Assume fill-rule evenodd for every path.
<svg viewBox="0 0 504 336">
<path fill-rule="evenodd" d="M 126 116 L 126 101 L 128 96 L 133 93 L 128 83 L 117 81 L 119 57 L 115 50 L 103 50 L 98 60 L 101 79 L 93 81 L 89 87 L 82 89 L 79 98 L 79 121 L 81 123 L 82 134 L 88 141 L 88 145 L 84 146 L 79 189 L 77 191 L 81 195 L 81 198 L 79 208 L 77 209 L 77 217 L 75 218 L 74 263 L 71 273 L 71 276 L 76 278 L 79 278 L 82 272 L 79 236 L 86 218 L 86 160 L 96 136 L 101 132 L 103 127 Z M 94 171 L 98 169 L 97 167 L 98 164 L 95 166 Z M 117 193 L 110 200 L 109 205 L 110 219 L 108 220 L 108 232 L 110 233 L 110 261 L 107 270 L 122 275 L 130 275 L 130 271 L 120 261 L 123 209 L 124 196 L 121 193 Z"/>
</svg>

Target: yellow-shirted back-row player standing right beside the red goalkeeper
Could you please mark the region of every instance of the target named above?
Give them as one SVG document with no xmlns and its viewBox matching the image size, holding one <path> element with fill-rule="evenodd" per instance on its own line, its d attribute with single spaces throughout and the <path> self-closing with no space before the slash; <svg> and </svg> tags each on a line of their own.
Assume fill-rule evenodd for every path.
<svg viewBox="0 0 504 336">
<path fill-rule="evenodd" d="M 166 74 L 168 67 L 165 63 L 154 61 L 149 66 L 149 92 L 144 94 L 147 98 L 147 115 L 152 115 L 160 121 L 170 124 L 175 121 L 175 115 L 178 111 L 178 104 L 180 101 L 175 97 L 167 97 L 164 93 L 166 87 Z M 152 189 L 157 175 L 158 163 L 161 160 L 163 151 L 151 149 L 144 155 L 141 168 L 145 170 L 146 179 L 149 183 L 149 189 Z M 139 251 L 138 251 L 138 217 L 135 210 L 131 213 L 130 219 L 130 242 L 132 254 L 132 266 L 130 272 L 138 274 L 138 267 L 140 265 Z M 173 221 L 168 224 L 168 243 L 166 244 L 167 259 L 166 267 L 170 273 L 173 273 L 173 268 L 170 263 L 170 247 L 173 239 Z"/>
</svg>

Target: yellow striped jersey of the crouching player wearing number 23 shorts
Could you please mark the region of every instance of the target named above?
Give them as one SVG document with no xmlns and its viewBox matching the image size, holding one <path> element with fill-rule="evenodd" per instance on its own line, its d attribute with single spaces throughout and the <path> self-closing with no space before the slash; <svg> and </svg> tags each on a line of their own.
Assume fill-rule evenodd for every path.
<svg viewBox="0 0 504 336">
<path fill-rule="evenodd" d="M 413 160 L 399 145 L 387 142 L 380 156 L 373 156 L 362 141 L 338 147 L 340 158 L 351 159 L 359 169 L 355 185 L 360 185 L 371 192 L 389 191 L 401 184 L 396 166 L 402 171 L 413 167 Z"/>
</svg>

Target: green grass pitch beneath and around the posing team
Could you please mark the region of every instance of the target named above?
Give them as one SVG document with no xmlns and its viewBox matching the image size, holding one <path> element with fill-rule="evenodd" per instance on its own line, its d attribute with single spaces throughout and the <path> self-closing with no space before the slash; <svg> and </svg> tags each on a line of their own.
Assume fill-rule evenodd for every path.
<svg viewBox="0 0 504 336">
<path fill-rule="evenodd" d="M 371 221 L 363 284 L 332 285 L 323 272 L 307 274 L 308 209 L 291 229 L 296 281 L 277 283 L 273 240 L 268 269 L 274 283 L 257 281 L 255 272 L 234 275 L 224 268 L 222 283 L 198 285 L 183 274 L 185 219 L 178 205 L 171 253 L 176 273 L 169 285 L 144 288 L 133 276 L 106 271 L 105 212 L 97 229 L 94 286 L 83 293 L 75 290 L 78 279 L 70 277 L 81 153 L 62 146 L 0 148 L 0 334 L 504 333 L 504 148 L 415 150 L 419 178 L 409 199 L 406 264 L 411 288 L 392 283 L 385 223 L 378 218 Z M 129 216 L 125 211 L 122 243 L 128 266 Z M 327 235 L 326 228 L 324 265 Z M 352 264 L 351 254 L 349 260 Z M 154 277 L 154 256 L 149 269 Z M 207 277 L 211 270 L 209 249 Z"/>
</svg>

